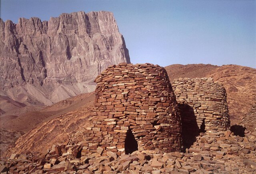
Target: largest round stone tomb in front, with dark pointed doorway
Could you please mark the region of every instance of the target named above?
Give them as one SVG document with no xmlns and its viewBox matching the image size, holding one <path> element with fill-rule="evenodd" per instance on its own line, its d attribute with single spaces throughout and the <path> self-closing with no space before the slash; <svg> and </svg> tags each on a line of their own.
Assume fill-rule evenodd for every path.
<svg viewBox="0 0 256 174">
<path fill-rule="evenodd" d="M 180 115 L 166 70 L 153 64 L 110 66 L 95 80 L 96 115 L 82 155 L 180 150 Z"/>
</svg>

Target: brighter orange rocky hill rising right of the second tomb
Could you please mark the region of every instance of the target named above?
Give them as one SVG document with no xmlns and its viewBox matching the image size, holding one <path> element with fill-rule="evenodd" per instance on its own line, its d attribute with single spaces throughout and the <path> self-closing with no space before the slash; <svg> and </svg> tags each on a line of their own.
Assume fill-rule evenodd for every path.
<svg viewBox="0 0 256 174">
<path fill-rule="evenodd" d="M 226 88 L 230 117 L 241 121 L 256 104 L 256 69 L 225 65 L 209 74 Z"/>
</svg>

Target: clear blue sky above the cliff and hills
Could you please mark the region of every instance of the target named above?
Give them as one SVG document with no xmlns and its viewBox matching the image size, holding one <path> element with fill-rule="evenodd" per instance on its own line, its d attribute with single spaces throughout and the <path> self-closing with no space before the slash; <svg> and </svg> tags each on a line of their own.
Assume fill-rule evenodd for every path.
<svg viewBox="0 0 256 174">
<path fill-rule="evenodd" d="M 132 63 L 256 68 L 256 0 L 0 0 L 1 18 L 114 13 Z"/>
</svg>

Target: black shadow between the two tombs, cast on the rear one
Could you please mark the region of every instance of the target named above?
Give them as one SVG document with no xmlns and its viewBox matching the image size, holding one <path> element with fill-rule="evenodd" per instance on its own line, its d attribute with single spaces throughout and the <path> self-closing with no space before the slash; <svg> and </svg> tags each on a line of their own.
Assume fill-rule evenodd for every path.
<svg viewBox="0 0 256 174">
<path fill-rule="evenodd" d="M 182 123 L 182 145 L 184 150 L 190 148 L 196 142 L 196 136 L 205 132 L 204 120 L 201 127 L 198 127 L 194 110 L 188 104 L 178 104 Z"/>
</svg>

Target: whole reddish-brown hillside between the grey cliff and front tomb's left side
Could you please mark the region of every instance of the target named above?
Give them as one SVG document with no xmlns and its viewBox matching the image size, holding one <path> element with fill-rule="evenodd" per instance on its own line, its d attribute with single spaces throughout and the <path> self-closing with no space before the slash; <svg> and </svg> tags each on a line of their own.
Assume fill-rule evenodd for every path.
<svg viewBox="0 0 256 174">
<path fill-rule="evenodd" d="M 93 92 L 85 93 L 62 100 L 52 106 L 44 108 L 25 106 L 23 108 L 14 108 L 0 115 L 0 156 L 9 145 L 14 144 L 23 134 L 27 133 L 26 135 L 28 136 L 21 138 L 20 143 L 24 142 L 24 144 L 17 143 L 19 147 L 23 149 L 35 147 L 35 149 L 31 150 L 42 150 L 42 147 L 48 144 L 45 139 L 55 142 L 58 138 L 61 139 L 63 134 L 66 136 L 68 134 L 66 128 L 71 123 L 76 125 L 74 128 L 80 128 L 79 125 L 84 124 L 86 120 L 84 122 L 79 120 L 87 119 L 88 116 L 88 109 L 84 108 L 90 107 L 94 98 Z M 54 124 L 56 122 L 58 124 Z M 78 124 L 78 122 L 80 123 Z M 64 128 L 62 127 L 63 125 L 65 125 Z M 38 139 L 38 136 L 44 138 Z M 26 139 L 30 139 L 30 143 Z M 50 144 L 53 142 L 50 142 Z"/>
</svg>

